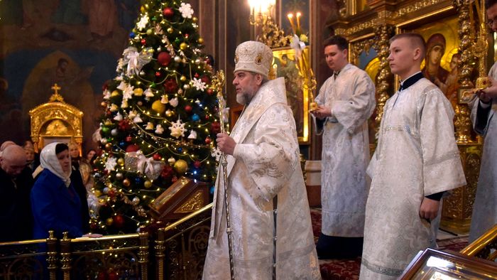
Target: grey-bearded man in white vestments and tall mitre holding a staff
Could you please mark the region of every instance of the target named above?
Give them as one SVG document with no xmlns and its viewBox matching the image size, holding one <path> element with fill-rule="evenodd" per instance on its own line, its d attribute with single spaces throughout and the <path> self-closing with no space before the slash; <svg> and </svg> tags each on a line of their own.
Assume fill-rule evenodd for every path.
<svg viewBox="0 0 497 280">
<path fill-rule="evenodd" d="M 245 108 L 231 136 L 217 134 L 217 146 L 228 155 L 234 276 L 320 279 L 295 120 L 284 79 L 268 81 L 272 60 L 263 43 L 248 41 L 236 48 L 233 85 L 236 101 Z M 204 279 L 230 276 L 222 172 L 214 191 Z"/>
</svg>

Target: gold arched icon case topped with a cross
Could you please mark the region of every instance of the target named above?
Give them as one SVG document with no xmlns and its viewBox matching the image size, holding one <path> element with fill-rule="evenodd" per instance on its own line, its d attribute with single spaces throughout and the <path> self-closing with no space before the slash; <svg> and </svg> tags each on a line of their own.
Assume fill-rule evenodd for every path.
<svg viewBox="0 0 497 280">
<path fill-rule="evenodd" d="M 29 111 L 31 116 L 31 140 L 38 152 L 54 141 L 75 142 L 82 154 L 83 112 L 67 104 L 55 93 L 50 101 Z"/>
</svg>

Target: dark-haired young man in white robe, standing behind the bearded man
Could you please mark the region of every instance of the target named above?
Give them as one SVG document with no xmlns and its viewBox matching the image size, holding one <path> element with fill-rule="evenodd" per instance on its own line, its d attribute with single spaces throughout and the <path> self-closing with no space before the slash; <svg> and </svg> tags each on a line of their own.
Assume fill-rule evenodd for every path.
<svg viewBox="0 0 497 280">
<path fill-rule="evenodd" d="M 364 212 L 368 198 L 369 136 L 374 84 L 368 74 L 347 60 L 349 42 L 332 36 L 324 42 L 324 57 L 333 70 L 316 97 L 313 111 L 322 136 L 322 226 L 317 242 L 320 259 L 361 256 Z"/>
</svg>

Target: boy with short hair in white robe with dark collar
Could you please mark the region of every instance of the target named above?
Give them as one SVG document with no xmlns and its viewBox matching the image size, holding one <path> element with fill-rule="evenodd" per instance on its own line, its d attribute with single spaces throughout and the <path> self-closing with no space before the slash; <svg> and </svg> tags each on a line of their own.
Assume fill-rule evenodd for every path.
<svg viewBox="0 0 497 280">
<path fill-rule="evenodd" d="M 388 62 L 400 89 L 386 102 L 368 166 L 371 188 L 360 279 L 397 279 L 417 252 L 435 247 L 430 222 L 447 190 L 466 184 L 454 138 L 454 110 L 422 77 L 419 34 L 391 38 Z"/>
</svg>

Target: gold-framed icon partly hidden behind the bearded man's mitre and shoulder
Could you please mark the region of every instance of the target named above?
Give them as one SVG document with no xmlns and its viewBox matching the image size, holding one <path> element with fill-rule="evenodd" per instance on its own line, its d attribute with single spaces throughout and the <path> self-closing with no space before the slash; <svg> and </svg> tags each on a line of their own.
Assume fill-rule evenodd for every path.
<svg viewBox="0 0 497 280">
<path fill-rule="evenodd" d="M 304 50 L 303 58 L 310 58 L 310 48 Z M 285 78 L 287 102 L 295 118 L 299 144 L 309 143 L 309 97 L 310 90 L 305 86 L 304 74 L 297 68 L 295 50 L 293 48 L 273 49 L 273 66 L 269 73 L 270 79 Z M 307 61 L 310 65 L 310 61 Z"/>
</svg>

